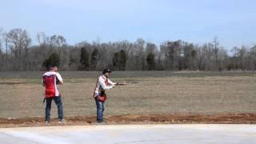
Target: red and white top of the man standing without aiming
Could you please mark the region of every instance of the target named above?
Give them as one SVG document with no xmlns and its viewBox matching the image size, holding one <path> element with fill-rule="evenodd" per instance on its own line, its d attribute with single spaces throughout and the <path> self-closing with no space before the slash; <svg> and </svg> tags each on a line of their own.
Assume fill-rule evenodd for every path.
<svg viewBox="0 0 256 144">
<path fill-rule="evenodd" d="M 46 98 L 58 97 L 60 96 L 58 92 L 57 84 L 58 82 L 63 82 L 62 76 L 54 71 L 48 71 L 42 75 L 42 84 L 46 87 L 45 96 Z"/>
</svg>

